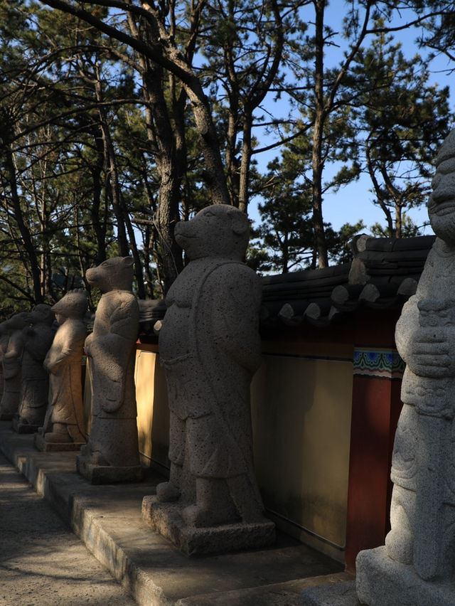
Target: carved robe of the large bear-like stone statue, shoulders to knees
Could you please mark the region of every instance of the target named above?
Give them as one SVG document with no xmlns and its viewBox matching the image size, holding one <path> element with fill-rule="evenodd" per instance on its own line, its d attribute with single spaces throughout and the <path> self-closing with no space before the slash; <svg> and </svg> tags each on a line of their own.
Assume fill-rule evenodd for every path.
<svg viewBox="0 0 455 606">
<path fill-rule="evenodd" d="M 250 268 L 217 258 L 191 261 L 166 297 L 159 347 L 171 410 L 169 459 L 182 465 L 186 452 L 195 477 L 252 474 L 249 395 L 260 363 L 260 299 Z"/>
</svg>

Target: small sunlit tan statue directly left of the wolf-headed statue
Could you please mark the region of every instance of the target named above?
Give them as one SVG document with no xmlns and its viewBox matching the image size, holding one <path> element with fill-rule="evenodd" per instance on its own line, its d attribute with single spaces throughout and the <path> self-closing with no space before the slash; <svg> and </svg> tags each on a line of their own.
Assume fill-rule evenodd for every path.
<svg viewBox="0 0 455 606">
<path fill-rule="evenodd" d="M 79 450 L 85 444 L 81 360 L 87 326 L 84 289 L 70 290 L 52 307 L 60 324 L 43 366 L 49 373 L 48 409 L 36 434 L 40 450 Z"/>
</svg>

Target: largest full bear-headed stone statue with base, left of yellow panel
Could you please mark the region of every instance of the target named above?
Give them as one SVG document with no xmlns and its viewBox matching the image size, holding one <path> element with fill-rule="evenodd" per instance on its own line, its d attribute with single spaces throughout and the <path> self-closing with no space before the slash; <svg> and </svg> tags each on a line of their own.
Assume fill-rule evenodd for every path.
<svg viewBox="0 0 455 606">
<path fill-rule="evenodd" d="M 250 381 L 261 361 L 261 285 L 242 262 L 248 220 L 232 206 L 209 206 L 178 223 L 175 234 L 190 262 L 169 289 L 159 333 L 171 470 L 157 500 L 144 499 L 144 516 L 187 552 L 247 546 L 248 524 L 263 525 L 256 538 L 264 544 L 274 540 L 274 526 L 264 519 L 252 464 Z M 173 501 L 183 533 L 192 533 L 189 542 L 171 522 L 159 526 Z M 238 527 L 234 543 L 201 539 L 197 546 L 197 528 L 227 524 Z"/>
</svg>

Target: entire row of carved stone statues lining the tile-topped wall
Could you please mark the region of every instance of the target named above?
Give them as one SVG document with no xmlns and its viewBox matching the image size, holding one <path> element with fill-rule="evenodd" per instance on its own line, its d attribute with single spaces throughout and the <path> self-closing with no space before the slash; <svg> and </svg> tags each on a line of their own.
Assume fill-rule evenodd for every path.
<svg viewBox="0 0 455 606">
<path fill-rule="evenodd" d="M 437 240 L 397 324 L 407 370 L 392 459 L 392 528 L 384 548 L 358 557 L 358 597 L 370 606 L 449 606 L 455 599 L 454 174 L 455 131 L 439 152 L 429 202 Z M 262 515 L 252 467 L 249 389 L 260 363 L 260 285 L 242 262 L 247 218 L 231 206 L 210 206 L 176 225 L 175 233 L 190 262 L 168 292 L 159 338 L 171 470 L 156 495 L 144 498 L 144 518 L 187 553 L 215 551 L 220 541 L 223 548 L 264 545 L 274 529 Z M 85 442 L 85 349 L 92 415 L 77 469 L 94 483 L 141 478 L 134 395 L 139 307 L 132 278 L 129 257 L 87 272 L 103 292 L 87 338 L 82 292 L 0 326 L 0 416 L 14 416 L 17 431 L 41 427 L 44 445 Z"/>
</svg>

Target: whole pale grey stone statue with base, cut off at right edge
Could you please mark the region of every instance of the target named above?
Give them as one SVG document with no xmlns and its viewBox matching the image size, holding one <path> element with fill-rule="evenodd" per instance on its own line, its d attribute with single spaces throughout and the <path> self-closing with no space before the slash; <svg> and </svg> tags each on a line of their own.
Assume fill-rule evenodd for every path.
<svg viewBox="0 0 455 606">
<path fill-rule="evenodd" d="M 358 555 L 358 596 L 369 605 L 455 603 L 455 131 L 437 156 L 428 211 L 437 239 L 395 334 L 407 366 L 392 528 L 384 548 Z"/>
</svg>

